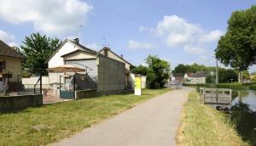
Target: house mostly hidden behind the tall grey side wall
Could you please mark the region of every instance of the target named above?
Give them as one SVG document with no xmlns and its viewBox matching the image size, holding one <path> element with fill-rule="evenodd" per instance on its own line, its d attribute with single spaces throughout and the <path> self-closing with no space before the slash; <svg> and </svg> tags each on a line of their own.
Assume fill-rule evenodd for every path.
<svg viewBox="0 0 256 146">
<path fill-rule="evenodd" d="M 110 59 L 115 59 L 120 62 L 125 63 L 125 89 L 133 89 L 133 83 L 134 83 L 134 76 L 131 75 L 131 67 L 134 65 L 131 65 L 130 62 L 124 59 L 123 55 L 118 55 L 114 53 L 110 48 L 104 47 L 102 50 L 99 51 L 102 55 L 110 58 Z M 145 76 L 144 76 L 145 77 Z"/>
</svg>

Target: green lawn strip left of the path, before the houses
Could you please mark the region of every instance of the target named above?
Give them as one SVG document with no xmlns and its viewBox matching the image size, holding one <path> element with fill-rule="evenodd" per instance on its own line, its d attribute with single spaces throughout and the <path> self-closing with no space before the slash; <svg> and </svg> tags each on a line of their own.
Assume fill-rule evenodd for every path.
<svg viewBox="0 0 256 146">
<path fill-rule="evenodd" d="M 0 145 L 46 145 L 129 109 L 170 89 L 85 98 L 60 104 L 0 114 Z"/>
</svg>

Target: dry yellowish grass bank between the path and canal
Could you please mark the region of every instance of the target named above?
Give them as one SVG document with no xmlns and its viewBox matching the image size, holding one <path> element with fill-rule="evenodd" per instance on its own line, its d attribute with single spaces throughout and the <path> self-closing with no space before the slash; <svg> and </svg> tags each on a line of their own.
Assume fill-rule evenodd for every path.
<svg viewBox="0 0 256 146">
<path fill-rule="evenodd" d="M 241 140 L 235 126 L 228 123 L 224 113 L 201 104 L 195 92 L 189 93 L 181 121 L 176 137 L 177 145 L 249 145 Z"/>
</svg>

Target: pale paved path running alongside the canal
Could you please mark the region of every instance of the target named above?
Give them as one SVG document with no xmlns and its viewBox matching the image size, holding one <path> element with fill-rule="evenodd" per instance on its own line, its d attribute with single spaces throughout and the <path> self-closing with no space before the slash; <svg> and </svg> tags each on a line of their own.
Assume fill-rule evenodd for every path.
<svg viewBox="0 0 256 146">
<path fill-rule="evenodd" d="M 192 88 L 183 87 L 153 98 L 131 110 L 91 126 L 53 145 L 173 146 L 178 118 Z"/>
</svg>

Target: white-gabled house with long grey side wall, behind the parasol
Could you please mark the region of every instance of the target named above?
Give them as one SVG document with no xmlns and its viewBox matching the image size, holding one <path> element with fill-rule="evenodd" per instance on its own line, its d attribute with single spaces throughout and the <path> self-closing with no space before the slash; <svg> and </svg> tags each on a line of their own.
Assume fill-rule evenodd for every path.
<svg viewBox="0 0 256 146">
<path fill-rule="evenodd" d="M 66 39 L 48 60 L 49 68 L 61 65 L 74 65 L 85 70 L 86 86 L 83 89 L 96 88 L 98 94 L 125 90 L 125 63 L 84 47 L 78 38 Z M 59 82 L 60 75 L 63 73 L 49 72 L 49 83 Z"/>
</svg>

